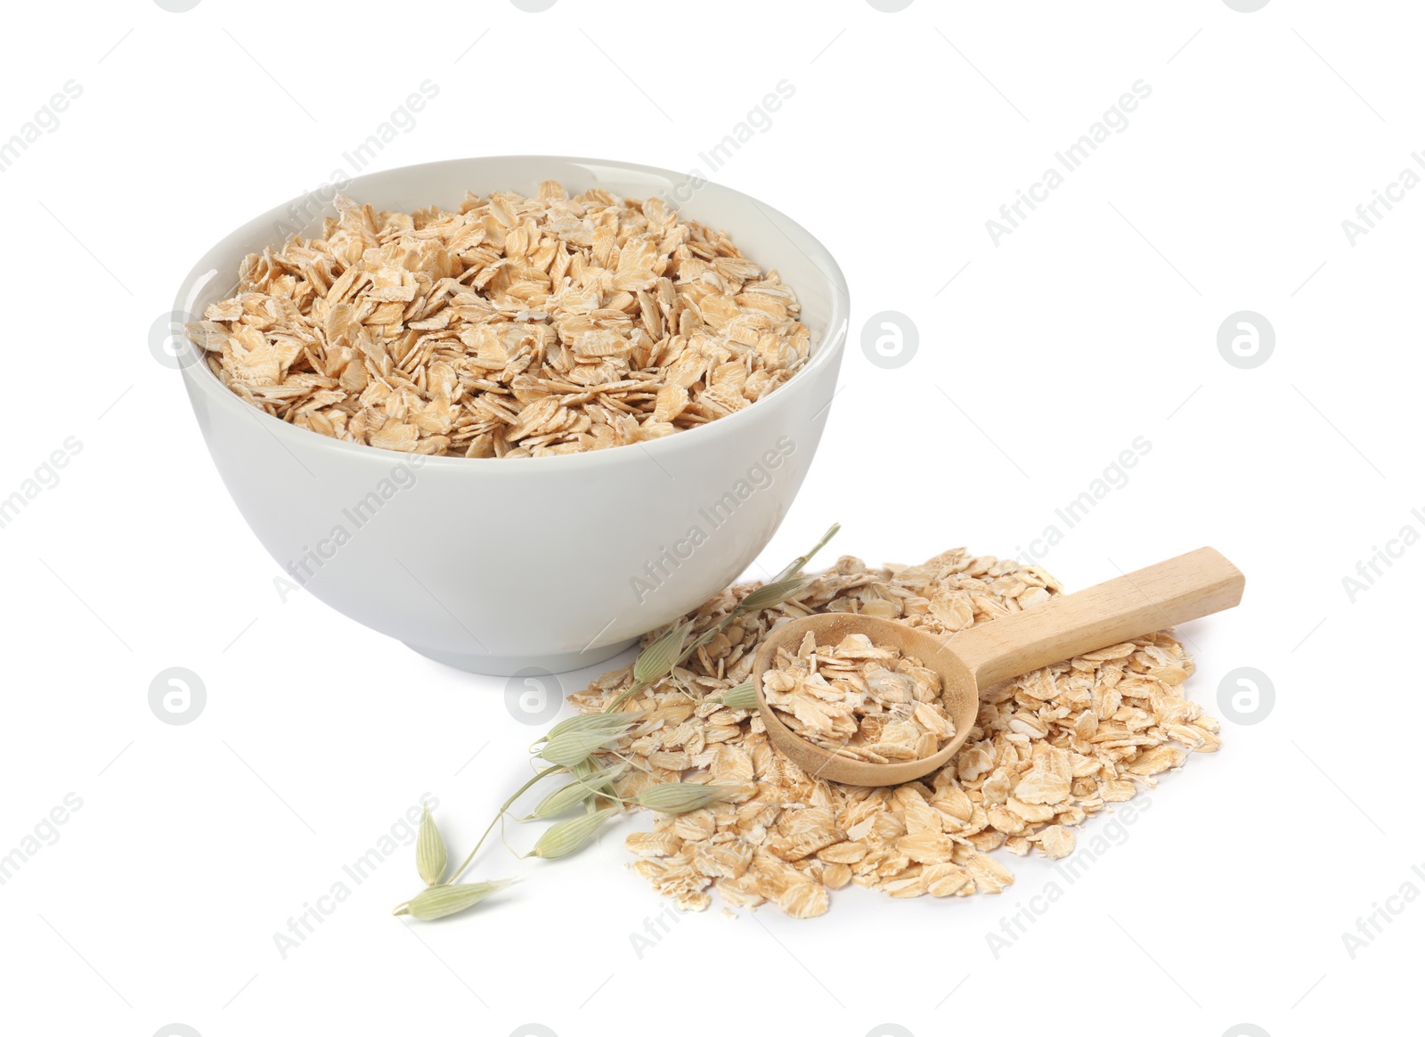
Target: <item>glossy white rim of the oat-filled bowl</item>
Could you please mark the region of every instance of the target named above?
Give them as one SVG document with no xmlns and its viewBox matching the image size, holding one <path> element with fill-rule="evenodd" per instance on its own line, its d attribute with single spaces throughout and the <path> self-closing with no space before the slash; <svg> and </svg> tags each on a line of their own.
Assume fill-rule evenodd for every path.
<svg viewBox="0 0 1425 1037">
<path fill-rule="evenodd" d="M 222 382 L 219 382 L 218 377 L 208 369 L 205 359 L 207 350 L 200 349 L 198 345 L 191 342 L 187 336 L 180 336 L 181 349 L 184 352 L 180 353 L 178 368 L 187 385 L 204 393 L 204 397 L 207 400 L 214 400 L 217 406 L 224 407 L 228 413 L 235 415 L 241 410 L 242 413 L 255 415 L 259 419 L 259 422 L 264 423 L 264 427 L 266 427 L 268 432 L 275 436 L 284 436 L 284 437 L 296 436 L 296 439 L 292 440 L 295 446 L 305 446 L 314 450 L 326 449 L 326 450 L 335 450 L 338 453 L 351 452 L 352 457 L 368 457 L 372 460 L 383 460 L 383 462 L 392 462 L 393 459 L 398 457 L 406 457 L 406 459 L 422 457 L 423 459 L 420 462 L 422 469 L 449 467 L 452 470 L 460 470 L 460 469 L 470 471 L 477 470 L 484 474 L 490 474 L 493 471 L 506 471 L 507 474 L 516 474 L 516 473 L 529 474 L 529 471 L 532 471 L 529 466 L 539 466 L 539 470 L 547 469 L 550 471 L 556 471 L 576 466 L 600 467 L 606 464 L 618 464 L 621 463 L 620 459 L 628 457 L 631 460 L 631 457 L 634 456 L 633 452 L 626 450 L 624 447 L 633 447 L 633 446 L 641 446 L 643 453 L 653 457 L 654 462 L 658 460 L 660 454 L 670 454 L 677 450 L 700 449 L 701 446 L 711 447 L 715 442 L 718 442 L 714 437 L 721 437 L 722 440 L 725 440 L 728 436 L 735 436 L 748 420 L 755 420 L 748 417 L 748 412 L 757 410 L 758 413 L 767 415 L 768 413 L 767 407 L 775 405 L 777 400 L 779 399 L 789 400 L 792 396 L 799 397 L 802 393 L 808 392 L 808 385 L 812 380 L 812 375 L 821 368 L 834 363 L 834 358 L 838 358 L 842 349 L 845 348 L 848 325 L 849 325 L 851 293 L 846 286 L 846 278 L 841 271 L 841 265 L 836 262 L 835 256 L 831 255 L 831 251 L 825 245 L 822 245 L 822 242 L 815 235 L 812 235 L 805 226 L 802 226 L 799 222 L 788 217 L 781 209 L 760 202 L 758 199 L 752 198 L 751 195 L 742 191 L 727 187 L 724 184 L 718 184 L 715 181 L 704 179 L 694 174 L 681 174 L 656 165 L 641 165 L 638 162 L 623 162 L 618 160 L 587 158 L 574 155 L 470 155 L 466 158 L 447 158 L 433 162 L 415 162 L 409 165 L 393 167 L 389 170 L 376 170 L 372 172 L 365 172 L 359 177 L 353 177 L 349 181 L 346 181 L 346 184 L 341 188 L 341 192 L 345 194 L 352 188 L 356 188 L 356 191 L 359 191 L 361 181 L 368 179 L 370 177 L 392 177 L 413 170 L 429 170 L 442 165 L 470 165 L 480 162 L 532 162 L 532 164 L 563 162 L 569 165 L 598 165 L 611 168 L 614 171 L 653 174 L 674 182 L 691 182 L 694 179 L 700 179 L 701 185 L 697 187 L 698 191 L 711 188 L 724 195 L 732 197 L 734 201 L 740 201 L 747 207 L 750 207 L 751 209 L 757 209 L 758 212 L 761 212 L 762 217 L 768 222 L 771 222 L 772 226 L 782 234 L 782 236 L 787 238 L 787 241 L 792 245 L 792 248 L 801 252 L 811 262 L 811 265 L 821 272 L 826 286 L 831 288 L 831 312 L 826 319 L 826 332 L 822 335 L 821 342 L 815 343 L 812 355 L 808 358 L 807 363 L 802 365 L 801 370 L 792 375 L 792 377 L 784 386 L 774 390 L 772 393 L 768 393 L 768 396 L 765 396 L 764 399 L 758 400 L 754 405 L 750 405 L 747 407 L 742 407 L 741 410 L 737 410 L 724 417 L 718 417 L 712 422 L 707 422 L 697 427 L 681 429 L 670 436 L 663 436 L 660 439 L 646 440 L 640 443 L 627 443 L 623 447 L 607 447 L 604 450 L 584 450 L 580 453 L 554 454 L 547 457 L 460 457 L 450 454 L 416 454 L 405 450 L 390 450 L 388 447 L 376 447 L 362 443 L 349 443 L 346 440 L 323 436 L 322 433 L 315 432 L 312 429 L 304 429 L 301 426 L 291 424 L 278 417 L 274 417 L 265 410 L 254 407 L 245 400 L 242 400 L 242 397 L 239 397 L 237 393 L 234 393 L 231 389 L 222 385 Z M 288 199 L 286 202 L 272 208 L 271 211 L 249 219 L 248 222 L 242 224 L 238 228 L 234 228 L 227 235 L 214 242 L 209 246 L 208 254 L 202 256 L 202 259 L 188 272 L 188 275 L 180 285 L 178 296 L 174 302 L 174 313 L 188 315 L 187 308 L 190 305 L 190 299 L 198 291 L 201 291 L 214 275 L 217 275 L 218 271 L 214 268 L 212 264 L 208 262 L 208 255 L 211 255 L 214 249 L 219 248 L 221 244 L 225 242 L 228 238 L 241 234 L 242 229 L 245 229 L 251 224 L 265 222 L 269 218 L 271 219 L 282 218 L 282 215 L 288 212 L 291 205 L 301 204 L 304 199 L 309 197 L 311 192 Z M 328 209 L 335 211 L 331 202 L 328 202 L 323 207 L 322 211 L 323 217 L 328 215 Z M 316 218 L 318 217 L 314 217 L 312 219 L 315 221 Z M 728 228 L 720 228 L 720 229 L 728 229 Z M 735 235 L 735 229 L 730 232 Z M 792 235 L 801 235 L 802 241 L 801 242 L 795 241 Z M 798 295 L 798 298 L 801 296 Z M 831 400 L 828 400 L 826 406 L 829 407 L 829 405 Z M 272 426 L 279 426 L 279 427 L 272 427 Z M 695 437 L 695 440 L 693 443 L 680 446 L 680 443 L 688 437 Z M 483 466 L 480 464 L 482 462 Z"/>
</svg>

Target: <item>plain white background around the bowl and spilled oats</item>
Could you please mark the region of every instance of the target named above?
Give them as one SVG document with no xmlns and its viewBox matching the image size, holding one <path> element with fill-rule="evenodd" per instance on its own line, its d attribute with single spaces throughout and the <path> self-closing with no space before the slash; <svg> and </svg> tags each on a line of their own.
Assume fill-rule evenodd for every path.
<svg viewBox="0 0 1425 1037">
<path fill-rule="evenodd" d="M 1342 219 L 1425 147 L 1412 16 L 1288 0 L 9 13 L 0 138 L 66 81 L 83 94 L 0 174 L 0 496 L 67 437 L 83 449 L 0 530 L 0 855 L 66 793 L 83 808 L 0 886 L 0 1028 L 569 1037 L 735 1020 L 923 1037 L 1050 1017 L 1057 1033 L 1281 1037 L 1402 1010 L 1425 905 L 1392 902 L 1402 913 L 1354 959 L 1342 933 L 1402 883 L 1425 890 L 1425 547 L 1354 601 L 1342 577 L 1425 528 L 1425 191 L 1354 245 Z M 1188 694 L 1220 715 L 1221 678 L 1254 667 L 1274 709 L 1224 722 L 1221 752 L 1168 775 L 998 959 L 986 933 L 1046 890 L 1046 862 L 1007 858 L 1002 896 L 849 889 L 814 922 L 681 916 L 640 960 L 630 933 L 670 903 L 624 869 L 623 835 L 647 818 L 560 863 L 494 846 L 477 875 L 524 882 L 419 927 L 389 914 L 418 889 L 402 848 L 284 959 L 274 933 L 422 793 L 469 846 L 536 728 L 500 679 L 304 594 L 284 604 L 150 329 L 195 256 L 343 168 L 423 80 L 439 95 L 372 168 L 543 152 L 708 172 L 698 152 L 794 84 L 712 174 L 817 234 L 852 291 L 844 389 L 765 570 L 832 520 L 832 553 L 868 561 L 1015 554 L 1144 436 L 1130 481 L 1043 564 L 1073 590 L 1218 547 L 1247 597 L 1184 628 Z M 1137 80 L 1151 95 L 1129 127 L 996 245 L 986 219 Z M 1277 339 L 1251 370 L 1217 349 L 1243 309 Z M 919 329 L 895 370 L 859 348 L 881 311 Z M 520 503 L 500 506 L 517 536 Z M 207 688 L 190 725 L 150 711 L 170 667 Z"/>
</svg>

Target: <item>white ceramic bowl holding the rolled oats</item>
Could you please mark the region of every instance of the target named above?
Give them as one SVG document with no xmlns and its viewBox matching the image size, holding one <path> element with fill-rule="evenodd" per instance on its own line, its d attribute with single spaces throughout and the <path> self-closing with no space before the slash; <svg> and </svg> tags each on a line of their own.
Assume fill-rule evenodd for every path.
<svg viewBox="0 0 1425 1037">
<path fill-rule="evenodd" d="M 846 283 L 826 249 L 781 212 L 685 174 L 466 158 L 358 177 L 343 192 L 378 209 L 456 208 L 466 189 L 533 195 L 549 178 L 571 194 L 661 194 L 727 229 L 797 292 L 812 333 L 808 365 L 745 410 L 650 443 L 466 459 L 286 424 L 225 389 L 191 342 L 177 353 L 208 452 L 285 578 L 422 655 L 482 674 L 601 662 L 737 578 L 811 466 L 846 339 Z M 299 198 L 234 231 L 194 266 L 175 312 L 201 315 L 227 298 L 241 259 L 281 242 L 294 214 L 309 235 L 335 209 L 329 198 Z"/>
</svg>

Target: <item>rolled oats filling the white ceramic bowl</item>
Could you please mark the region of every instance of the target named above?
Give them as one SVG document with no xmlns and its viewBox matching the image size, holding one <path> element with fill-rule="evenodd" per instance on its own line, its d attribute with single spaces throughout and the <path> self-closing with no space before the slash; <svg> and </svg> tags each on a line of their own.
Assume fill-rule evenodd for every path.
<svg viewBox="0 0 1425 1037">
<path fill-rule="evenodd" d="M 782 386 L 792 291 L 661 199 L 554 181 L 457 212 L 348 198 L 319 238 L 249 255 L 187 326 L 225 386 L 352 443 L 530 457 L 658 439 Z"/>
</svg>

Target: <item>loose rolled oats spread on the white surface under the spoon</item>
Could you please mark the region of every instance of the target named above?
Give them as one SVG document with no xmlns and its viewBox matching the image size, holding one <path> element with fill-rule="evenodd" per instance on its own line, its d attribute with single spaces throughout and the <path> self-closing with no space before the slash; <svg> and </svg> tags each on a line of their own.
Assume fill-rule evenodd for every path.
<svg viewBox="0 0 1425 1037">
<path fill-rule="evenodd" d="M 691 618 L 705 630 L 757 584 L 731 587 Z M 633 866 L 680 907 L 774 902 L 792 917 L 826 912 L 848 883 L 889 896 L 999 893 L 1013 882 L 998 850 L 1063 858 L 1073 829 L 1154 785 L 1187 754 L 1220 746 L 1218 725 L 1183 698 L 1193 662 L 1166 632 L 1087 652 L 985 689 L 969 741 L 940 771 L 893 788 L 811 779 L 777 754 L 757 712 L 711 701 L 747 681 L 772 625 L 811 613 L 864 613 L 952 635 L 1033 608 L 1062 591 L 1039 567 L 946 551 L 922 566 L 866 568 L 844 557 L 804 594 L 747 614 L 685 668 L 630 699 L 650 711 L 607 762 L 631 761 L 623 796 L 658 782 L 734 789 L 724 802 L 654 815 L 634 832 Z M 628 669 L 571 697 L 600 709 Z"/>
</svg>

